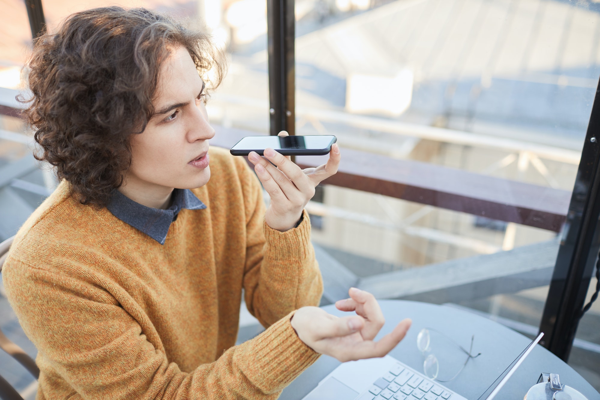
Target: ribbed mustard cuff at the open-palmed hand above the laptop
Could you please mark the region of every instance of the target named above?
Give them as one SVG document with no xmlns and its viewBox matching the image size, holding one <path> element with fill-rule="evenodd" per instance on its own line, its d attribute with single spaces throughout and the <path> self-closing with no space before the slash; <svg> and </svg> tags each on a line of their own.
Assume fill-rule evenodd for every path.
<svg viewBox="0 0 600 400">
<path fill-rule="evenodd" d="M 294 312 L 248 343 L 251 356 L 245 359 L 244 370 L 264 393 L 283 390 L 320 356 L 296 335 L 291 323 Z"/>
</svg>

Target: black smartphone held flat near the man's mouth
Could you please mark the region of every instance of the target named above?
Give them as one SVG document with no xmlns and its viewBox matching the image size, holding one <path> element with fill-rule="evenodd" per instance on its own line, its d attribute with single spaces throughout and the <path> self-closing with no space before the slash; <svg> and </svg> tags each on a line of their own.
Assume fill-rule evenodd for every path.
<svg viewBox="0 0 600 400">
<path fill-rule="evenodd" d="M 246 136 L 230 150 L 234 156 L 247 156 L 250 151 L 263 155 L 270 147 L 284 156 L 322 156 L 337 141 L 333 135 L 311 136 Z"/>
</svg>

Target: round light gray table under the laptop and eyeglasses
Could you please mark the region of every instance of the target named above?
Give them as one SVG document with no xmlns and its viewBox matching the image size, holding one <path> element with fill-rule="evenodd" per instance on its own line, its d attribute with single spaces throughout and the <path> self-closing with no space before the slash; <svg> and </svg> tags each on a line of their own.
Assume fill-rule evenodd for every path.
<svg viewBox="0 0 600 400">
<path fill-rule="evenodd" d="M 380 300 L 386 324 L 376 339 L 389 333 L 404 318 L 412 318 L 413 324 L 403 341 L 389 354 L 417 371 L 422 371 L 424 356 L 416 347 L 416 336 L 424 328 L 433 328 L 448 335 L 463 347 L 469 349 L 471 336 L 475 335 L 473 354 L 481 353 L 469 360 L 466 367 L 454 380 L 445 383 L 447 387 L 466 397 L 476 400 L 488 386 L 499 377 L 504 369 L 527 347 L 529 338 L 507 327 L 479 317 L 479 315 L 448 306 L 405 300 Z M 323 307 L 330 314 L 343 316 L 334 305 Z M 434 340 L 432 335 L 432 341 Z M 437 353 L 440 360 L 440 375 L 445 354 Z M 464 358 L 462 359 L 464 362 Z M 458 362 L 459 365 L 461 362 Z M 340 362 L 328 356 L 321 356 L 302 375 L 286 387 L 280 399 L 300 400 L 317 386 Z M 455 366 L 453 366 L 455 367 Z M 527 390 L 537 383 L 542 372 L 559 374 L 560 382 L 574 387 L 589 400 L 599 400 L 600 394 L 577 372 L 541 345 L 537 345 L 523 364 L 500 390 L 496 399 L 523 399 Z"/>
</svg>

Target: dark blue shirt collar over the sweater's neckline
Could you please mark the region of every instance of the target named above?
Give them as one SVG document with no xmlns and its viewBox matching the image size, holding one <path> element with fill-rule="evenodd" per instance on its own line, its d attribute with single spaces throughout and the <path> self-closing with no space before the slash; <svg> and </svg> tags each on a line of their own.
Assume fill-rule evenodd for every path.
<svg viewBox="0 0 600 400">
<path fill-rule="evenodd" d="M 190 189 L 173 190 L 173 202 L 166 210 L 146 207 L 115 190 L 106 208 L 113 216 L 164 244 L 169 227 L 177 219 L 179 211 L 183 208 L 204 210 L 206 205 Z"/>
</svg>

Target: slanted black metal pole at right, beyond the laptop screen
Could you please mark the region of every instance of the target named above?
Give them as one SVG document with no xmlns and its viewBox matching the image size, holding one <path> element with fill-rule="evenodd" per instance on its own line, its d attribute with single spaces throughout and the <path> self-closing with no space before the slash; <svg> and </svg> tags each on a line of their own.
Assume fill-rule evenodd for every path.
<svg viewBox="0 0 600 400">
<path fill-rule="evenodd" d="M 600 87 L 592 106 L 559 253 L 539 326 L 540 342 L 567 361 L 600 249 Z"/>
</svg>

